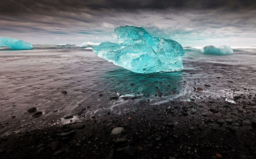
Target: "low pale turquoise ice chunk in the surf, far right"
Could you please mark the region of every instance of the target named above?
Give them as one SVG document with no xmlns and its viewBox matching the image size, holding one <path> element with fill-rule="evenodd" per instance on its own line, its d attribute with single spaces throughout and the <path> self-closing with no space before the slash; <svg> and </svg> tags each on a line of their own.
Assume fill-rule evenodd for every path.
<svg viewBox="0 0 256 159">
<path fill-rule="evenodd" d="M 205 45 L 201 48 L 203 54 L 213 54 L 213 55 L 228 55 L 233 54 L 233 50 L 230 45 Z"/>
</svg>

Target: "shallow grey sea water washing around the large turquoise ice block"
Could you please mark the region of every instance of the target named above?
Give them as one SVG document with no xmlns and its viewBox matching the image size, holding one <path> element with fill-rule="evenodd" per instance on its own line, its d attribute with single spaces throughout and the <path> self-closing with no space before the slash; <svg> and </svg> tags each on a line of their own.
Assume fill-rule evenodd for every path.
<svg viewBox="0 0 256 159">
<path fill-rule="evenodd" d="M 34 47 L 26 51 L 0 51 L 0 134 L 14 133 L 43 125 L 70 122 L 67 115 L 87 107 L 84 118 L 96 113 L 127 110 L 126 103 L 164 103 L 169 100 L 203 100 L 248 94 L 255 97 L 256 49 L 235 49 L 233 55 L 203 55 L 185 48 L 184 71 L 138 74 L 117 67 L 92 51 L 75 46 Z M 208 84 L 211 87 L 205 87 Z M 196 91 L 201 87 L 204 91 Z M 244 89 L 246 88 L 246 90 Z M 66 90 L 67 94 L 61 92 Z M 143 94 L 137 98 L 110 96 Z M 103 96 L 99 96 L 103 94 Z M 114 105 L 113 105 L 114 104 Z M 43 116 L 26 112 L 37 107 Z M 53 113 L 53 111 L 56 111 Z M 11 118 L 11 116 L 14 116 Z"/>
</svg>

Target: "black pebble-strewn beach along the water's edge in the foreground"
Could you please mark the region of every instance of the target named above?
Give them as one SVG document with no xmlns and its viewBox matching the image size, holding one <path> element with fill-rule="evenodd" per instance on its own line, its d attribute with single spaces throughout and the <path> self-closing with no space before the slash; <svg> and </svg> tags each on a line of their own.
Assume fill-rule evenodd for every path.
<svg viewBox="0 0 256 159">
<path fill-rule="evenodd" d="M 0 158 L 253 159 L 255 95 L 233 100 L 130 103 L 126 114 L 2 136 Z"/>
</svg>

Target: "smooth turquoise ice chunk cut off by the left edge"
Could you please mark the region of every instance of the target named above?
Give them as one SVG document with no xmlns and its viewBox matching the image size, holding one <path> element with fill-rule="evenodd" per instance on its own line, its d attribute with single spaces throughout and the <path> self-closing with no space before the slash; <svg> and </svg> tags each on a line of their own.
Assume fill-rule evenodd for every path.
<svg viewBox="0 0 256 159">
<path fill-rule="evenodd" d="M 22 40 L 8 38 L 8 37 L 0 37 L 0 47 L 9 48 L 12 50 L 31 50 L 33 49 L 32 44 L 24 42 Z"/>
</svg>

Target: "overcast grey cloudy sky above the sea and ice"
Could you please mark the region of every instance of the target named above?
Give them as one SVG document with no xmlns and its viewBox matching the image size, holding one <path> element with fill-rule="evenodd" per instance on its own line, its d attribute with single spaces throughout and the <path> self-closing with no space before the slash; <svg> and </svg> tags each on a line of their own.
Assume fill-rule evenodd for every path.
<svg viewBox="0 0 256 159">
<path fill-rule="evenodd" d="M 183 46 L 256 45 L 255 0 L 5 0 L 0 36 L 32 44 L 117 42 L 133 25 Z"/>
</svg>

